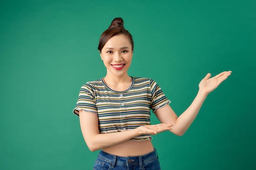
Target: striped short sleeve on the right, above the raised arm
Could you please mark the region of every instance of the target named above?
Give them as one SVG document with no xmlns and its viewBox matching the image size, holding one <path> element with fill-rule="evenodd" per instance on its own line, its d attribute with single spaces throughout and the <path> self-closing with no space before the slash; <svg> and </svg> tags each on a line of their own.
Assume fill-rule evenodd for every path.
<svg viewBox="0 0 256 170">
<path fill-rule="evenodd" d="M 165 96 L 160 86 L 152 79 L 150 79 L 150 88 L 151 88 L 151 109 L 153 112 L 155 112 L 156 109 L 164 107 L 165 105 L 171 102 Z"/>
</svg>

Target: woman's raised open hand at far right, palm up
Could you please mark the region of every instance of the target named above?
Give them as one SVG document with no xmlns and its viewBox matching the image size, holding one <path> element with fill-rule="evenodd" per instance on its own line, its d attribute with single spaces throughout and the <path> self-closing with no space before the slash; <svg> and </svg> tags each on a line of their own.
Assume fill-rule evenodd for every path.
<svg viewBox="0 0 256 170">
<path fill-rule="evenodd" d="M 223 71 L 214 77 L 211 77 L 211 73 L 208 73 L 205 78 L 199 83 L 199 91 L 204 92 L 205 94 L 211 93 L 215 88 L 218 87 L 224 80 L 226 80 L 232 71 Z"/>
</svg>

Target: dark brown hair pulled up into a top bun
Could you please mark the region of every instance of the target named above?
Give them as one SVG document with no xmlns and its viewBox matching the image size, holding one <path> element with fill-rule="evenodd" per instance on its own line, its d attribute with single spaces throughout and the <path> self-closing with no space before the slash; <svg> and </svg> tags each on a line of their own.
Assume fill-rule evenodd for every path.
<svg viewBox="0 0 256 170">
<path fill-rule="evenodd" d="M 116 17 L 112 20 L 110 26 L 101 34 L 98 50 L 101 52 L 107 41 L 118 34 L 128 36 L 131 43 L 131 50 L 133 51 L 133 39 L 131 34 L 124 28 L 124 20 L 121 17 Z"/>
</svg>

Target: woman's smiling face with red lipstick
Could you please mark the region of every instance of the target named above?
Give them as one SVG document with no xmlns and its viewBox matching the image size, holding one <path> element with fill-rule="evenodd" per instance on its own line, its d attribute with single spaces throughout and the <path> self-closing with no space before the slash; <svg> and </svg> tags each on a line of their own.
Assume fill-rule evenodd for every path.
<svg viewBox="0 0 256 170">
<path fill-rule="evenodd" d="M 101 59 L 112 76 L 127 75 L 133 51 L 128 36 L 119 34 L 111 37 L 101 51 Z"/>
</svg>

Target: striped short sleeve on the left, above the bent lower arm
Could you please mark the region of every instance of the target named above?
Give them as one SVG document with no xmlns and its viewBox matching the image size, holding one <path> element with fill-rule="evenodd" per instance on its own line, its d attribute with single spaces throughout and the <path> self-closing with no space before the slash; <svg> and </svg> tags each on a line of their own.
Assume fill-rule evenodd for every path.
<svg viewBox="0 0 256 170">
<path fill-rule="evenodd" d="M 79 110 L 83 109 L 85 112 L 91 112 L 97 114 L 95 94 L 93 88 L 89 84 L 85 84 L 79 91 L 76 107 L 73 109 L 73 113 L 79 116 Z"/>
</svg>

